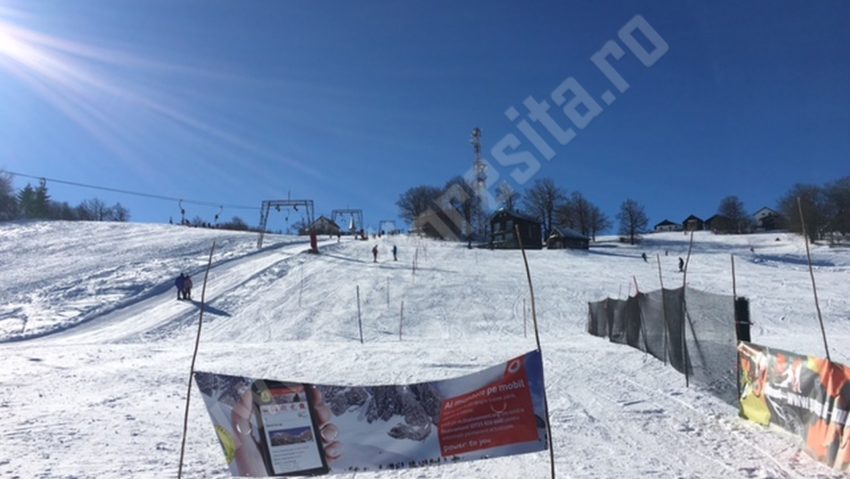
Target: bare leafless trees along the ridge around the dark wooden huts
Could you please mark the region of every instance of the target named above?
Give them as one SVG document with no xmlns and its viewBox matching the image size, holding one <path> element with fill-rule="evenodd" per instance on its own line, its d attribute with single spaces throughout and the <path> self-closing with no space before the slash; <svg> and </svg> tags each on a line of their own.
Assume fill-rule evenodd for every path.
<svg viewBox="0 0 850 479">
<path fill-rule="evenodd" d="M 442 188 L 427 185 L 410 188 L 400 195 L 396 205 L 400 216 L 414 225 L 429 214 L 441 215 L 442 219 L 450 219 L 457 214 L 469 223 L 474 223 L 474 218 L 482 213 L 474 197 L 472 186 L 463 178 L 455 177 Z M 446 198 L 451 200 L 446 201 Z M 465 198 L 466 201 L 459 198 Z M 720 201 L 711 229 L 718 233 L 742 234 L 765 229 L 802 234 L 798 198 L 810 241 L 828 239 L 832 242 L 850 236 L 850 176 L 824 185 L 793 185 L 777 201 L 777 214 L 762 218 L 758 225 L 743 201 L 734 195 L 727 196 Z M 565 227 L 595 241 L 598 234 L 613 226 L 611 219 L 581 192 L 568 194 L 548 178 L 536 180 L 524 193 L 502 183 L 497 188 L 496 200 L 497 207 L 530 216 L 540 222 L 544 238 L 548 238 L 554 228 Z M 626 199 L 620 204 L 616 219 L 621 240 L 631 244 L 649 231 L 646 209 L 634 199 Z M 486 231 L 487 226 L 479 225 L 482 231 Z M 445 237 L 433 228 L 425 228 L 422 232 L 429 236 Z"/>
</svg>

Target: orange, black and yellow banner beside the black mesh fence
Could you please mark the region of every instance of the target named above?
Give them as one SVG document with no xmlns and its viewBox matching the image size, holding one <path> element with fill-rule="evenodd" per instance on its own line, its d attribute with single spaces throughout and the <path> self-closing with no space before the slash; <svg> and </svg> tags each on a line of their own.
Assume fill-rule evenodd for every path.
<svg viewBox="0 0 850 479">
<path fill-rule="evenodd" d="M 738 344 L 741 416 L 800 435 L 816 459 L 850 472 L 850 368 Z"/>
</svg>

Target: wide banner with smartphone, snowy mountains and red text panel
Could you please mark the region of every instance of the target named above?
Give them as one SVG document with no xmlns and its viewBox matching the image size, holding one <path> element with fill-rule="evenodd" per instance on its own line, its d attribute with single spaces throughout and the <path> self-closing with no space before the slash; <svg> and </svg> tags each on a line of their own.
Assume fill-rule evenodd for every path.
<svg viewBox="0 0 850 479">
<path fill-rule="evenodd" d="M 204 372 L 195 382 L 238 476 L 395 470 L 547 448 L 538 351 L 468 376 L 404 386 Z"/>
</svg>

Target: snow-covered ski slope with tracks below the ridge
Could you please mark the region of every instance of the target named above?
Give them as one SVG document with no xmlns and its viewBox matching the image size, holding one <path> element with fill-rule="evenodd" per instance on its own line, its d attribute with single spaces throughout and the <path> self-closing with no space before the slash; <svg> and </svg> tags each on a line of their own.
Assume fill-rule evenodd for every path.
<svg viewBox="0 0 850 479">
<path fill-rule="evenodd" d="M 0 476 L 176 474 L 202 270 L 214 239 L 200 370 L 404 383 L 466 374 L 535 347 L 530 323 L 523 334 L 528 288 L 518 251 L 334 238 L 314 256 L 296 237 L 270 236 L 257 250 L 249 233 L 3 224 Z M 378 264 L 370 253 L 375 244 Z M 398 262 L 389 254 L 393 244 Z M 659 287 L 656 254 L 665 285 L 680 285 L 677 263 L 687 246 L 681 233 L 665 233 L 637 247 L 610 240 L 590 252 L 529 252 L 559 476 L 844 477 L 811 460 L 794 437 L 686 389 L 672 368 L 584 332 L 588 301 L 625 296 L 633 275 L 641 290 Z M 751 299 L 753 340 L 822 356 L 802 240 L 698 234 L 689 284 L 731 294 L 730 254 L 738 294 Z M 833 359 L 850 363 L 850 251 L 817 246 L 813 255 Z M 195 302 L 175 299 L 172 282 L 181 271 L 193 276 Z M 356 322 L 358 286 L 365 345 Z M 188 477 L 226 477 L 194 387 L 190 413 Z M 544 478 L 547 461 L 538 453 L 381 477 Z"/>
</svg>

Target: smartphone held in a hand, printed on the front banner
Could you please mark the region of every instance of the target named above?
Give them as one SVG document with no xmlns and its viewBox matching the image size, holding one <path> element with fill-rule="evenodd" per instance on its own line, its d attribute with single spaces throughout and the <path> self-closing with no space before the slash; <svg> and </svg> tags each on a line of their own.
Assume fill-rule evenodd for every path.
<svg viewBox="0 0 850 479">
<path fill-rule="evenodd" d="M 326 474 L 328 465 L 312 398 L 305 385 L 256 381 L 253 393 L 262 425 L 262 452 L 268 473 Z"/>
</svg>

